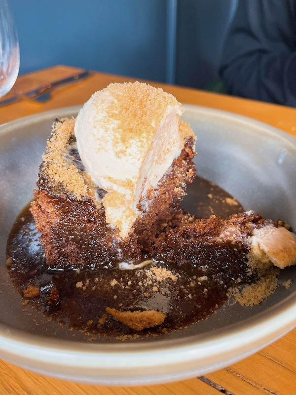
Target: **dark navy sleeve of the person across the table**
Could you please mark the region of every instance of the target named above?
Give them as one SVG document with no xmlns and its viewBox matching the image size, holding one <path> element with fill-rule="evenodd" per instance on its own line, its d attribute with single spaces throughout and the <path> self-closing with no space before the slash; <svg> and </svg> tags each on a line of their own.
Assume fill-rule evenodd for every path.
<svg viewBox="0 0 296 395">
<path fill-rule="evenodd" d="M 296 0 L 238 0 L 220 77 L 236 96 L 296 107 Z"/>
</svg>

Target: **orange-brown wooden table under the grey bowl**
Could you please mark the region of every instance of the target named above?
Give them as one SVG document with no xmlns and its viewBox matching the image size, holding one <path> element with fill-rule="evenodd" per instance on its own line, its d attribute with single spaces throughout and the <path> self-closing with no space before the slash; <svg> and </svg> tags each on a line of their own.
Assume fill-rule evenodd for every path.
<svg viewBox="0 0 296 395">
<path fill-rule="evenodd" d="M 19 77 L 15 87 L 28 91 L 40 84 L 68 77 L 80 69 L 56 66 Z M 94 73 L 89 79 L 56 89 L 46 103 L 21 101 L 0 107 L 0 123 L 43 111 L 82 105 L 110 82 L 131 78 Z M 182 103 L 214 107 L 258 119 L 296 137 L 296 109 L 180 86 L 151 83 Z M 52 379 L 0 360 L 1 395 L 158 395 L 158 394 L 296 394 L 296 329 L 274 344 L 225 369 L 176 383 L 143 387 L 103 387 Z"/>
</svg>

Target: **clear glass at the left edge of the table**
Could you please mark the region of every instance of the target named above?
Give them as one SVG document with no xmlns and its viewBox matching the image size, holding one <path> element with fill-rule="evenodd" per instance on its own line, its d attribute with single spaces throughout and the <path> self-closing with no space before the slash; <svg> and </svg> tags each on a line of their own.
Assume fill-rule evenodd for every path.
<svg viewBox="0 0 296 395">
<path fill-rule="evenodd" d="M 0 0 L 0 97 L 14 85 L 20 67 L 17 32 L 7 0 Z"/>
</svg>

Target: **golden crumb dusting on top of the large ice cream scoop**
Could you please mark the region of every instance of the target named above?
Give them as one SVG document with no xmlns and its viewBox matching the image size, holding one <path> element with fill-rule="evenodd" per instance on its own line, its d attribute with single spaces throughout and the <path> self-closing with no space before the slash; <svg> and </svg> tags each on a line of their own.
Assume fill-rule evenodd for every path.
<svg viewBox="0 0 296 395">
<path fill-rule="evenodd" d="M 181 104 L 173 95 L 141 82 L 111 83 L 94 93 L 90 101 L 96 112 L 102 114 L 102 125 L 106 122 L 109 128 L 112 119 L 115 127 L 113 146 L 119 157 L 126 154 L 133 139 L 137 139 L 140 146 L 145 146 L 147 140 L 154 136 L 155 125 L 161 123 L 168 108 L 177 107 L 183 113 Z"/>
</svg>

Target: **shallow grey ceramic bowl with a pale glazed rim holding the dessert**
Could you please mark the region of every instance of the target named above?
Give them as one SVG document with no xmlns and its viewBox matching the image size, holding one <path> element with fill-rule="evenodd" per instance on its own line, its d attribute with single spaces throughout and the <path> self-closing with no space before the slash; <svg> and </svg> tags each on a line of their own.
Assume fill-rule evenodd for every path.
<svg viewBox="0 0 296 395">
<path fill-rule="evenodd" d="M 185 105 L 197 135 L 197 173 L 236 197 L 245 210 L 296 229 L 296 139 L 259 121 Z M 62 108 L 0 126 L 0 358 L 50 376 L 101 385 L 155 384 L 204 375 L 257 352 L 296 326 L 296 268 L 281 272 L 261 305 L 226 304 L 217 314 L 156 338 L 89 342 L 86 335 L 22 306 L 6 266 L 6 240 L 32 199 L 46 140 Z M 190 208 L 190 207 L 186 207 Z M 292 279 L 289 289 L 281 285 Z"/>
</svg>

